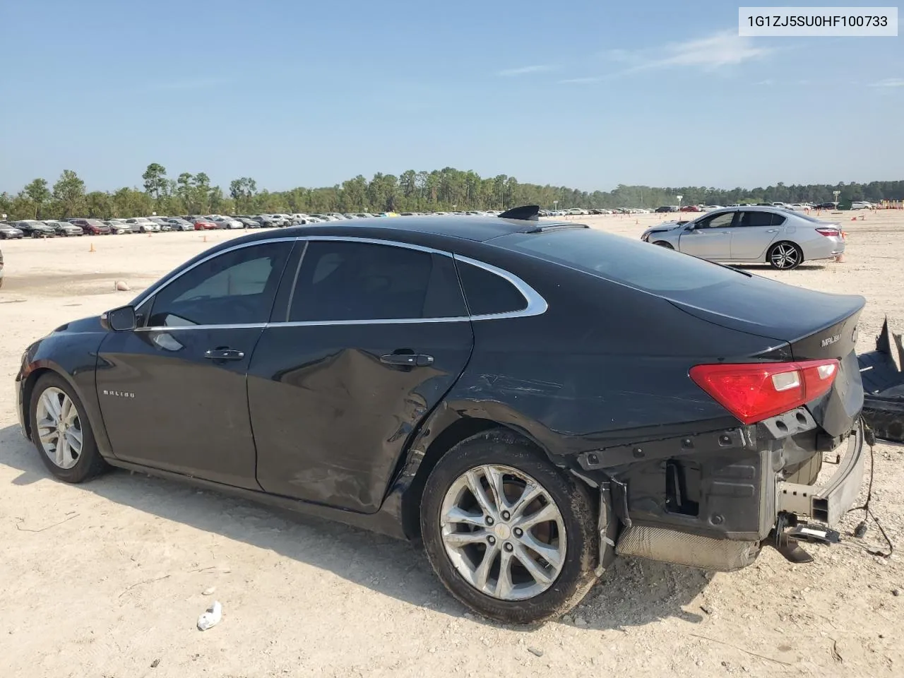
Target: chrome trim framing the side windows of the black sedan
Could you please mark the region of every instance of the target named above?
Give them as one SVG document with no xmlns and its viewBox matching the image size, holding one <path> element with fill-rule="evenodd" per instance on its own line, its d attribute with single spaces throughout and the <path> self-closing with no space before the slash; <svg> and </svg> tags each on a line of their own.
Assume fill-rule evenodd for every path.
<svg viewBox="0 0 904 678">
<path fill-rule="evenodd" d="M 248 247 L 254 247 L 255 245 L 263 245 L 269 244 L 272 242 L 304 242 L 305 250 L 302 251 L 301 256 L 298 258 L 297 268 L 294 273 L 289 274 L 289 272 L 284 268 L 283 269 L 283 279 L 288 275 L 293 277 L 293 281 L 297 280 L 298 271 L 301 270 L 302 262 L 305 260 L 305 255 L 307 253 L 307 243 L 312 241 L 332 241 L 332 242 L 364 242 L 372 245 L 387 245 L 390 247 L 400 247 L 405 248 L 407 250 L 418 250 L 421 252 L 425 252 L 427 254 L 438 254 L 443 257 L 449 257 L 450 259 L 456 261 L 462 261 L 466 264 L 471 264 L 472 266 L 476 266 L 478 268 L 483 268 L 486 271 L 493 273 L 500 278 L 504 278 L 508 281 L 513 287 L 515 287 L 525 298 L 527 301 L 527 306 L 525 306 L 520 311 L 506 311 L 504 313 L 492 313 L 492 314 L 481 314 L 481 315 L 454 315 L 448 317 L 439 317 L 439 318 L 376 318 L 372 320 L 303 320 L 303 321 L 275 321 L 268 323 L 251 323 L 251 324 L 238 324 L 238 325 L 148 325 L 142 327 L 136 327 L 133 332 L 174 332 L 179 330 L 211 330 L 211 329 L 244 329 L 244 328 L 266 328 L 266 327 L 306 327 L 306 326 L 318 326 L 318 325 L 419 325 L 419 324 L 427 324 L 427 323 L 464 323 L 471 322 L 474 320 L 504 320 L 507 318 L 519 318 L 519 317 L 531 317 L 532 315 L 542 315 L 546 313 L 549 308 L 549 304 L 547 304 L 546 299 L 541 297 L 540 293 L 537 292 L 533 287 L 528 285 L 523 279 L 514 275 L 513 273 L 504 270 L 503 268 L 497 268 L 491 264 L 487 264 L 483 261 L 479 261 L 477 259 L 471 259 L 470 257 L 465 257 L 463 255 L 454 254 L 452 252 L 447 252 L 443 250 L 436 250 L 434 248 L 425 247 L 423 245 L 415 245 L 410 242 L 399 242 L 398 240 L 381 240 L 377 238 L 358 238 L 354 236 L 340 236 L 340 235 L 310 235 L 310 236 L 298 236 L 297 238 L 268 238 L 261 240 L 251 240 L 250 242 L 242 242 L 239 245 L 235 245 L 230 248 L 226 248 L 224 250 L 218 250 L 213 252 L 210 256 L 204 257 L 203 259 L 199 259 L 192 266 L 188 268 L 184 268 L 184 270 L 179 271 L 179 273 L 172 278 L 166 280 L 163 284 L 158 285 L 157 287 L 149 287 L 144 295 L 141 297 L 136 297 L 136 299 L 132 300 L 133 306 L 140 306 L 144 304 L 149 298 L 154 297 L 161 290 L 168 287 L 175 280 L 182 278 L 186 273 L 201 266 L 203 263 L 210 261 L 215 257 L 219 257 L 221 254 L 227 254 L 228 252 L 235 250 L 243 250 Z M 294 289 L 293 289 L 294 296 Z M 137 303 L 136 303 L 137 302 Z"/>
</svg>

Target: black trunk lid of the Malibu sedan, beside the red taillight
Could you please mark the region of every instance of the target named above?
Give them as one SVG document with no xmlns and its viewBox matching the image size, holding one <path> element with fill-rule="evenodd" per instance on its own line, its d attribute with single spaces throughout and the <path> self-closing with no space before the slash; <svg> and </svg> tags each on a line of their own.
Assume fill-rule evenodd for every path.
<svg viewBox="0 0 904 678">
<path fill-rule="evenodd" d="M 857 363 L 857 321 L 866 300 L 833 295 L 750 276 L 724 285 L 664 296 L 685 313 L 715 325 L 772 340 L 760 356 L 782 361 L 834 358 L 839 372 L 831 391 L 807 403 L 832 437 L 851 430 L 863 406 Z"/>
</svg>

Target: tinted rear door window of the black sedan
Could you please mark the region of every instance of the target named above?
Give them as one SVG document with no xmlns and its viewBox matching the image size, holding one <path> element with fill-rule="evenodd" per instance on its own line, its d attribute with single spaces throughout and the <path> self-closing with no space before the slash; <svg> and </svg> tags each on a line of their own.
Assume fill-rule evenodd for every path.
<svg viewBox="0 0 904 678">
<path fill-rule="evenodd" d="M 368 242 L 307 243 L 290 322 L 461 317 L 465 301 L 452 259 Z"/>
</svg>

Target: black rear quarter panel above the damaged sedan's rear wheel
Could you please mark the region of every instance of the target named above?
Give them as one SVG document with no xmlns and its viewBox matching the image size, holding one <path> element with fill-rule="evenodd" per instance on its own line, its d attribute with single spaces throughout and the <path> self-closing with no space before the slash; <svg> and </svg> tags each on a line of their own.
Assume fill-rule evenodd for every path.
<svg viewBox="0 0 904 678">
<path fill-rule="evenodd" d="M 737 425 L 688 371 L 759 353 L 768 340 L 569 268 L 535 259 L 488 263 L 528 281 L 549 308 L 474 322 L 474 353 L 448 408 L 521 429 L 552 455 Z"/>
</svg>

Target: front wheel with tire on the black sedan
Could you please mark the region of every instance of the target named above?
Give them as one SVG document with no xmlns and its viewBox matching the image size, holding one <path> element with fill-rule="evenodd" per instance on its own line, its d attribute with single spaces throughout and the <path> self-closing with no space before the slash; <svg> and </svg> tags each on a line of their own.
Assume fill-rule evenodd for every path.
<svg viewBox="0 0 904 678">
<path fill-rule="evenodd" d="M 85 406 L 61 376 L 48 373 L 38 379 L 29 414 L 34 447 L 54 476 L 67 483 L 83 483 L 107 469 Z"/>
</svg>

